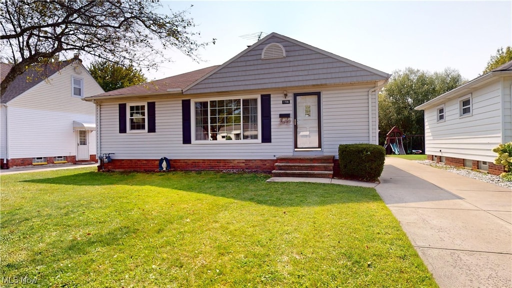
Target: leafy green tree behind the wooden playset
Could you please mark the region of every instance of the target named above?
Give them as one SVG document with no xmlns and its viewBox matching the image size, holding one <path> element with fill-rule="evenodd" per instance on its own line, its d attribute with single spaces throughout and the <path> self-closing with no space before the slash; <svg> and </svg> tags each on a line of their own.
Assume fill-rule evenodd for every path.
<svg viewBox="0 0 512 288">
<path fill-rule="evenodd" d="M 379 129 L 386 134 L 397 126 L 405 134 L 424 134 L 423 111 L 415 107 L 464 82 L 459 71 L 446 68 L 430 73 L 413 68 L 393 72 L 379 93 Z"/>
</svg>

